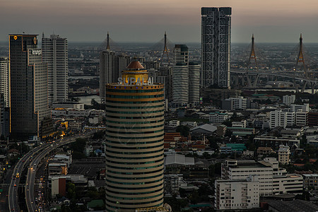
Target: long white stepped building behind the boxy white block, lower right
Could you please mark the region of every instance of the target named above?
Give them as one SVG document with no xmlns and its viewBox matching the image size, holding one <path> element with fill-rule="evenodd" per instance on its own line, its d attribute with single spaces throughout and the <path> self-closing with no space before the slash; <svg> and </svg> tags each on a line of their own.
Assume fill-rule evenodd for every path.
<svg viewBox="0 0 318 212">
<path fill-rule="evenodd" d="M 246 179 L 249 175 L 258 175 L 259 195 L 301 194 L 302 176 L 288 175 L 286 170 L 278 167 L 276 158 L 254 160 L 225 160 L 222 164 L 222 179 Z"/>
</svg>

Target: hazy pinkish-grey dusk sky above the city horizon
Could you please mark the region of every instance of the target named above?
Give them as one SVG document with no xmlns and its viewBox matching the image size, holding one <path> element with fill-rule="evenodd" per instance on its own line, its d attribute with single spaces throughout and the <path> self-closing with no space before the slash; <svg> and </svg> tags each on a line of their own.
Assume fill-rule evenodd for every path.
<svg viewBox="0 0 318 212">
<path fill-rule="evenodd" d="M 201 42 L 201 7 L 232 7 L 232 42 L 318 42 L 317 0 L 1 0 L 0 40 L 53 32 L 69 42 Z"/>
</svg>

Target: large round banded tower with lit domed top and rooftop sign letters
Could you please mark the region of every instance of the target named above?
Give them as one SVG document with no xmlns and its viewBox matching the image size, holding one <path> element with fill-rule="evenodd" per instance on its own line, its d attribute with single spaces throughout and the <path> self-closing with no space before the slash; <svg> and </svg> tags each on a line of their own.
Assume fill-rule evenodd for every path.
<svg viewBox="0 0 318 212">
<path fill-rule="evenodd" d="M 131 61 L 106 90 L 106 211 L 163 206 L 164 86 Z"/>
</svg>

